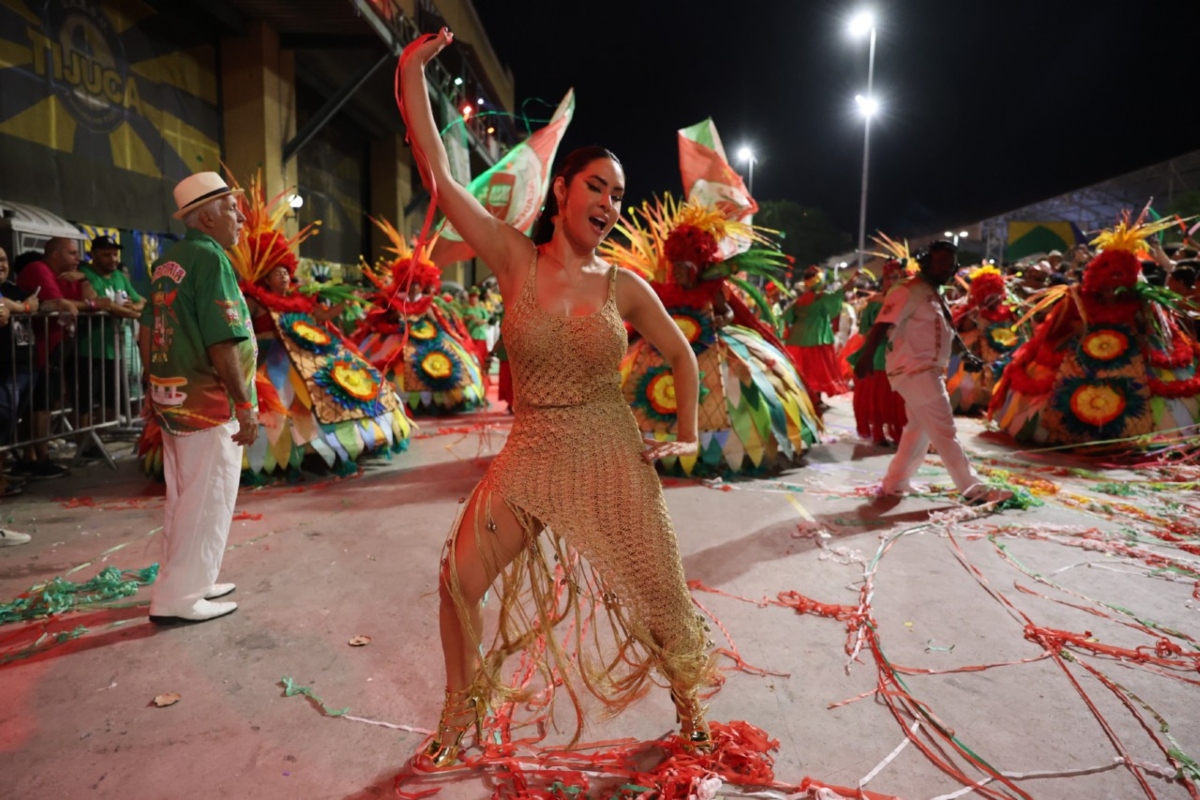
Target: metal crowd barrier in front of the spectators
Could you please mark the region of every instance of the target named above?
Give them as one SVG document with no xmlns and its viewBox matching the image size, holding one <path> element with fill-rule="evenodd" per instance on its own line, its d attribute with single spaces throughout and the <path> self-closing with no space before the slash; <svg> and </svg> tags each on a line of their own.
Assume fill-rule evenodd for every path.
<svg viewBox="0 0 1200 800">
<path fill-rule="evenodd" d="M 137 321 L 104 312 L 13 313 L 5 327 L 11 336 L 0 354 L 0 453 L 65 440 L 74 444 L 72 463 L 98 451 L 115 469 L 100 432 L 113 439 L 140 431 Z M 91 344 L 109 338 L 112 359 Z"/>
</svg>

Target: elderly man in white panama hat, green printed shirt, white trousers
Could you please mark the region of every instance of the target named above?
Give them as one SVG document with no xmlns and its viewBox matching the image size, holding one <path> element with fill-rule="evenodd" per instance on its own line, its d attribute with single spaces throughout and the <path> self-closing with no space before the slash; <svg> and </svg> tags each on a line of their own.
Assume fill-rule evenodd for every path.
<svg viewBox="0 0 1200 800">
<path fill-rule="evenodd" d="M 139 345 L 150 408 L 163 432 L 167 506 L 162 569 L 150 601 L 161 625 L 230 614 L 212 602 L 234 590 L 216 583 L 238 500 L 241 447 L 258 435 L 250 309 L 224 249 L 246 222 L 241 190 L 216 173 L 175 187 L 176 219 L 187 225 L 151 270 Z"/>
</svg>

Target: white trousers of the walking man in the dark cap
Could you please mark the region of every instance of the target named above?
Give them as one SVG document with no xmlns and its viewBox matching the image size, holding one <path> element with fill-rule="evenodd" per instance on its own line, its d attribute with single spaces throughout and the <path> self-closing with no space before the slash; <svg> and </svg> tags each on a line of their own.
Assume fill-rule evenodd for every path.
<svg viewBox="0 0 1200 800">
<path fill-rule="evenodd" d="M 888 474 L 883 477 L 883 493 L 902 494 L 912 491 L 912 477 L 925 461 L 930 444 L 942 457 L 950 480 L 964 497 L 985 489 L 959 440 L 950 396 L 946 391 L 946 377 L 929 369 L 895 375 L 890 381 L 892 389 L 904 398 L 908 423 L 900 437 L 896 455 L 888 464 Z"/>
</svg>

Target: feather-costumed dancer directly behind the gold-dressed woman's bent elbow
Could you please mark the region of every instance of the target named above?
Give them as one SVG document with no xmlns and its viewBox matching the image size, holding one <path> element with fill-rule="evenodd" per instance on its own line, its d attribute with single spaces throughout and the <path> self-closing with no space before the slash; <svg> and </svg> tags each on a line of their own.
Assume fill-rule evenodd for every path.
<svg viewBox="0 0 1200 800">
<path fill-rule="evenodd" d="M 798 459 L 820 441 L 821 420 L 804 381 L 775 336 L 770 305 L 739 273 L 775 279 L 786 257 L 766 231 L 726 218 L 698 200 L 670 194 L 644 204 L 617 229 L 630 243 L 600 247 L 610 261 L 650 282 L 700 363 L 700 452 L 662 465 L 684 475 L 764 471 Z M 728 240 L 752 243 L 734 252 Z M 760 320 L 733 289 L 766 309 Z M 665 441 L 677 433 L 671 367 L 650 342 L 634 342 L 622 362 L 622 390 L 642 433 Z"/>
</svg>

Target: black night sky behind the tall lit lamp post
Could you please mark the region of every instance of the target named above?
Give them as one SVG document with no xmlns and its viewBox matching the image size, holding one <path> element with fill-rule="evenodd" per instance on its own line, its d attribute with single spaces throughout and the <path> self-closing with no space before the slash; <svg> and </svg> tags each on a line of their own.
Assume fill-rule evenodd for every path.
<svg viewBox="0 0 1200 800">
<path fill-rule="evenodd" d="M 678 194 L 676 131 L 712 116 L 760 200 L 857 231 L 866 40 L 853 2 L 476 0 L 517 102 L 575 86 L 559 154 L 602 144 L 631 198 Z M 1200 149 L 1200 0 L 874 0 L 869 229 L 919 235 Z M 1190 85 L 1190 89 L 1188 88 Z M 550 109 L 529 103 L 532 116 Z M 1200 188 L 1200 187 L 1193 187 Z"/>
</svg>

